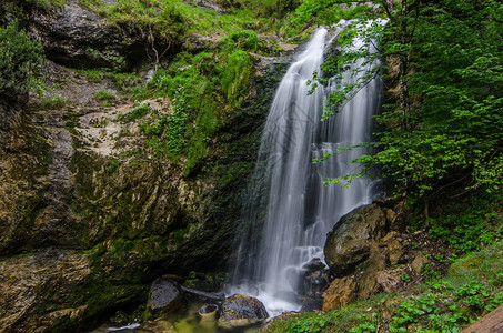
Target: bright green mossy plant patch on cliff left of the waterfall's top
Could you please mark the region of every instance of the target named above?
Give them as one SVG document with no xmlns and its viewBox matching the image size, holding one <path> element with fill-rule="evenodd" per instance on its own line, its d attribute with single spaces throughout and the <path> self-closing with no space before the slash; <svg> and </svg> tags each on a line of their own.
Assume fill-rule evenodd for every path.
<svg viewBox="0 0 503 333">
<path fill-rule="evenodd" d="M 144 85 L 147 97 L 168 97 L 173 112 L 141 124 L 147 143 L 173 161 L 183 155 L 184 174 L 201 169 L 218 130 L 244 105 L 261 50 L 255 32 L 224 36 L 217 49 L 181 52 Z"/>
</svg>

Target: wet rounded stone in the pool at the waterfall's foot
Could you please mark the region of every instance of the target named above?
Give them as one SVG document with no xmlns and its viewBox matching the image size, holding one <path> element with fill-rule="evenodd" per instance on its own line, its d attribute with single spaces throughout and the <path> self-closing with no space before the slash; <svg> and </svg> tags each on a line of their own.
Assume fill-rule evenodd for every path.
<svg viewBox="0 0 503 333">
<path fill-rule="evenodd" d="M 269 313 L 258 299 L 234 294 L 223 301 L 219 325 L 222 327 L 247 326 L 266 317 L 269 317 Z"/>
</svg>

